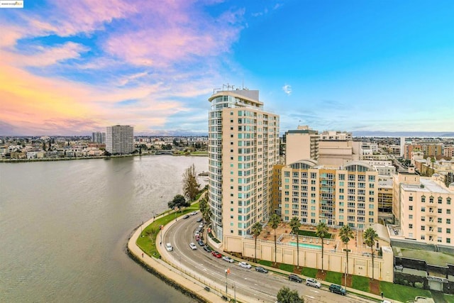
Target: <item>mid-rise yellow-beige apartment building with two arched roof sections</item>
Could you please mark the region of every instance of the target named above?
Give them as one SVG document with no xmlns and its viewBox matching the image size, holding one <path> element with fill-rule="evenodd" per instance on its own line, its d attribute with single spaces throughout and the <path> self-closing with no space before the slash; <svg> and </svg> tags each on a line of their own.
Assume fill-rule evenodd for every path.
<svg viewBox="0 0 454 303">
<path fill-rule="evenodd" d="M 281 216 L 303 224 L 349 225 L 364 229 L 378 219 L 378 173 L 365 162 L 324 167 L 299 160 L 281 169 Z"/>
</svg>

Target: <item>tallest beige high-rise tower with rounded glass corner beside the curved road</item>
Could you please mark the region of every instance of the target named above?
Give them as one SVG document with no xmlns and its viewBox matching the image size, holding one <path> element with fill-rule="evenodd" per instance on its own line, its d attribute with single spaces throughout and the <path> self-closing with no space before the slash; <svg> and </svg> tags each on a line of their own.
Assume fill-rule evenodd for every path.
<svg viewBox="0 0 454 303">
<path fill-rule="evenodd" d="M 279 116 L 258 90 L 209 97 L 209 204 L 212 231 L 234 251 L 255 222 L 272 214 L 272 172 L 279 162 Z"/>
</svg>

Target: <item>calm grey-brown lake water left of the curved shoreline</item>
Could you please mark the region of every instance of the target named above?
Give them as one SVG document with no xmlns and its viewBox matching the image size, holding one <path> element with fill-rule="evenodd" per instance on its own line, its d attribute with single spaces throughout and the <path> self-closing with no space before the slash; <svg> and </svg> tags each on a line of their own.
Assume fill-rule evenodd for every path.
<svg viewBox="0 0 454 303">
<path fill-rule="evenodd" d="M 125 253 L 192 163 L 208 170 L 167 155 L 0 163 L 0 302 L 193 302 Z"/>
</svg>

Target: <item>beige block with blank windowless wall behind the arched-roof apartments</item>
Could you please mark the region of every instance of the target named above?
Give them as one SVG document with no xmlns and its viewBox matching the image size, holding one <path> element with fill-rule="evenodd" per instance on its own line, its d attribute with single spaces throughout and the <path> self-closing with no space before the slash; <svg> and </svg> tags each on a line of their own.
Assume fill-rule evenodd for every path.
<svg viewBox="0 0 454 303">
<path fill-rule="evenodd" d="M 319 132 L 309 126 L 298 126 L 297 130 L 284 134 L 285 163 L 301 159 L 319 159 Z"/>
</svg>

